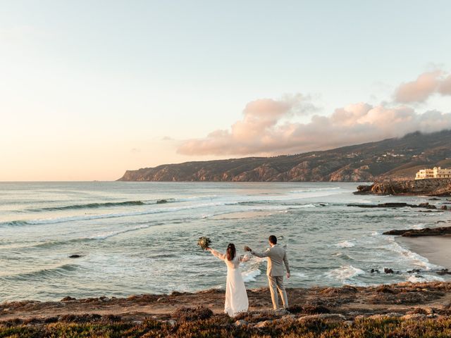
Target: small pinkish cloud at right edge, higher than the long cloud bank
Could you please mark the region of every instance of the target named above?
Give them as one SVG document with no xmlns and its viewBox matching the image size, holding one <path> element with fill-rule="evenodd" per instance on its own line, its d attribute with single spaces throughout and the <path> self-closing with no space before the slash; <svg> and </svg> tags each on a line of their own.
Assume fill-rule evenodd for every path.
<svg viewBox="0 0 451 338">
<path fill-rule="evenodd" d="M 419 75 L 416 80 L 400 84 L 395 100 L 401 103 L 424 102 L 432 94 L 451 95 L 451 75 L 435 70 Z"/>
</svg>

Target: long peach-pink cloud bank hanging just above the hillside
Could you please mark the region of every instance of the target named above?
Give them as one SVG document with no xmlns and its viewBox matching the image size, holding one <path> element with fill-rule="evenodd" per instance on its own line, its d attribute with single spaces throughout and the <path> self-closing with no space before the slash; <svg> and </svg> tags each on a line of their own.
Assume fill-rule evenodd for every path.
<svg viewBox="0 0 451 338">
<path fill-rule="evenodd" d="M 296 102 L 301 104 L 302 100 Z M 417 130 L 434 132 L 451 128 L 450 113 L 427 111 L 421 114 L 408 106 L 393 108 L 366 103 L 335 109 L 330 116 L 313 115 L 309 123 L 285 120 L 299 111 L 297 104 L 286 100 L 252 101 L 243 111 L 242 120 L 233 124 L 230 130 L 216 130 L 202 139 L 187 140 L 178 148 L 178 153 L 217 156 L 297 154 L 402 137 Z"/>
</svg>

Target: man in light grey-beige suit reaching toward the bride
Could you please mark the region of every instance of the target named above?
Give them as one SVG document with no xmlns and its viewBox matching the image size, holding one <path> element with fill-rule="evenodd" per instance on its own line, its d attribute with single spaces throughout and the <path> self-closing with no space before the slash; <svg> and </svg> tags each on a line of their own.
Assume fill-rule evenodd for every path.
<svg viewBox="0 0 451 338">
<path fill-rule="evenodd" d="M 290 278 L 290 265 L 288 265 L 288 257 L 285 249 L 277 245 L 277 237 L 271 235 L 269 237 L 269 245 L 271 248 L 264 252 L 253 251 L 249 246 L 245 246 L 246 251 L 251 251 L 254 256 L 263 258 L 268 257 L 268 268 L 266 268 L 266 275 L 268 275 L 269 290 L 271 291 L 271 300 L 273 301 L 274 310 L 279 308 L 279 299 L 277 290 L 282 297 L 283 307 L 288 308 L 287 292 L 283 285 L 283 263 L 287 269 L 287 278 Z"/>
</svg>

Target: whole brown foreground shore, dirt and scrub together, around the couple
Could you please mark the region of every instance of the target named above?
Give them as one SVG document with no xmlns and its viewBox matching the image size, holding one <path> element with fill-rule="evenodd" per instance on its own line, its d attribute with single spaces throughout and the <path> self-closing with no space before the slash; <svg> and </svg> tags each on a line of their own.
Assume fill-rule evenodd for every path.
<svg viewBox="0 0 451 338">
<path fill-rule="evenodd" d="M 450 282 L 288 289 L 290 313 L 278 314 L 268 289 L 248 295 L 249 312 L 236 318 L 223 314 L 217 289 L 0 303 L 0 337 L 368 337 L 374 325 L 387 334 L 451 327 Z"/>
</svg>

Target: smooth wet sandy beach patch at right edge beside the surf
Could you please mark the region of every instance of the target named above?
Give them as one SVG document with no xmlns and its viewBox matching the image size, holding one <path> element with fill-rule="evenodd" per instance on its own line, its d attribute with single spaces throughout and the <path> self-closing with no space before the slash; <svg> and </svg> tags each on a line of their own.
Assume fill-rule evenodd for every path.
<svg viewBox="0 0 451 338">
<path fill-rule="evenodd" d="M 451 269 L 451 235 L 424 237 L 396 237 L 400 245 L 428 258 L 443 268 Z"/>
</svg>

